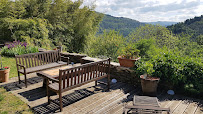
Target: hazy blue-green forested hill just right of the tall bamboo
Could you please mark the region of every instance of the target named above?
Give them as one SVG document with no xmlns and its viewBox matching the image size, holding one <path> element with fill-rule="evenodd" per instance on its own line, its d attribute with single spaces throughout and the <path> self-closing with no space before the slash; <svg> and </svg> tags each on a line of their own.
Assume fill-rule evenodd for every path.
<svg viewBox="0 0 203 114">
<path fill-rule="evenodd" d="M 100 23 L 99 33 L 102 33 L 103 30 L 116 30 L 120 31 L 123 36 L 127 36 L 130 32 L 135 30 L 139 26 L 143 26 L 145 23 L 139 21 L 124 18 L 124 17 L 113 17 L 111 15 L 104 15 L 103 21 Z"/>
</svg>

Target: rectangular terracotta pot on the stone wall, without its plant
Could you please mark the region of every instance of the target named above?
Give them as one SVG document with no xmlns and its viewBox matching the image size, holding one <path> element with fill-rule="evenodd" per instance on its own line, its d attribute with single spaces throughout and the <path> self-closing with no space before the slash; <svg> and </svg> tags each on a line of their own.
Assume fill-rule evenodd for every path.
<svg viewBox="0 0 203 114">
<path fill-rule="evenodd" d="M 135 61 L 139 60 L 140 58 L 136 58 L 136 59 L 126 59 L 123 58 L 121 56 L 118 56 L 118 61 L 120 63 L 120 66 L 123 67 L 134 67 L 135 65 Z"/>
</svg>

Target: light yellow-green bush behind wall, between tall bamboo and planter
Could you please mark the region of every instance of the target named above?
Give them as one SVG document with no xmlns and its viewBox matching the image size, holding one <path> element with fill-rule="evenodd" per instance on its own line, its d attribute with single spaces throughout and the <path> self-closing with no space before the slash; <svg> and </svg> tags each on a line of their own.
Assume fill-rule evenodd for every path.
<svg viewBox="0 0 203 114">
<path fill-rule="evenodd" d="M 124 45 L 124 38 L 114 30 L 106 32 L 97 37 L 88 39 L 85 47 L 85 53 L 89 56 L 106 56 L 111 57 L 113 60 L 117 60 L 118 50 Z"/>
</svg>

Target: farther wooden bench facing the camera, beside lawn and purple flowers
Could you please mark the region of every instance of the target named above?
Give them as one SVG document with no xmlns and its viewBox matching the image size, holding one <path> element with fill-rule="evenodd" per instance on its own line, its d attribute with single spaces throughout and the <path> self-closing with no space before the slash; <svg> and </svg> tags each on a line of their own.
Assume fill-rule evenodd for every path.
<svg viewBox="0 0 203 114">
<path fill-rule="evenodd" d="M 67 59 L 67 62 L 62 62 L 61 58 Z M 21 73 L 25 76 L 26 87 L 27 87 L 27 74 L 54 67 L 64 66 L 69 63 L 69 58 L 61 56 L 59 50 L 16 55 L 15 59 L 19 83 L 21 83 L 20 80 Z"/>
</svg>

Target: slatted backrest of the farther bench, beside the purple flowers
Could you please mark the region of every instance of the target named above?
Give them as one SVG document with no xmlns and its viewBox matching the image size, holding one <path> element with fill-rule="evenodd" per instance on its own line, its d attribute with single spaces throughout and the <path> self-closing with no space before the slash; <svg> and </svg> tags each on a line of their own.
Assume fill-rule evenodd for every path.
<svg viewBox="0 0 203 114">
<path fill-rule="evenodd" d="M 26 66 L 26 68 L 30 68 L 30 67 L 36 67 L 36 66 L 59 61 L 60 51 L 51 50 L 46 52 L 16 55 L 15 58 L 16 58 L 16 64 L 21 64 Z M 17 65 L 17 70 L 19 69 L 21 68 Z"/>
</svg>

